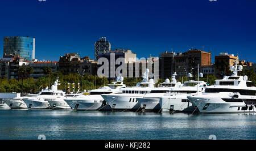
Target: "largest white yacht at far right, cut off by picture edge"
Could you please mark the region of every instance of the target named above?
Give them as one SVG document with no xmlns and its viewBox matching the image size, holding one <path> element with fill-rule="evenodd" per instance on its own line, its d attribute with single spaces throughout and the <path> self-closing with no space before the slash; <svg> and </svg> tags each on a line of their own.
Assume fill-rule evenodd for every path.
<svg viewBox="0 0 256 151">
<path fill-rule="evenodd" d="M 256 88 L 251 87 L 247 76 L 238 76 L 242 66 L 238 60 L 231 67 L 232 76 L 216 80 L 216 84 L 205 88 L 204 93 L 188 96 L 200 113 L 251 113 L 255 112 Z"/>
</svg>

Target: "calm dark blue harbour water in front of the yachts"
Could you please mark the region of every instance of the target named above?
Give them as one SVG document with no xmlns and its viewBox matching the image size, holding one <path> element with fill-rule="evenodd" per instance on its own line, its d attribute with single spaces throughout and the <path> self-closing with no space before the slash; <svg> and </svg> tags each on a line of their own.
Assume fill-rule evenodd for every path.
<svg viewBox="0 0 256 151">
<path fill-rule="evenodd" d="M 256 139 L 256 114 L 0 110 L 0 139 Z"/>
</svg>

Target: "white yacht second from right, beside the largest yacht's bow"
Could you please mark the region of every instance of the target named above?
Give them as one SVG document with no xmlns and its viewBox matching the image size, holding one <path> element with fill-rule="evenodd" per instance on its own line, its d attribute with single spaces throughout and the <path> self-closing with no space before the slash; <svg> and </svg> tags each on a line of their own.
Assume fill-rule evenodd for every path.
<svg viewBox="0 0 256 151">
<path fill-rule="evenodd" d="M 203 74 L 198 75 L 198 78 L 203 77 Z M 188 76 L 193 77 L 191 74 L 188 74 Z M 197 81 L 186 81 L 180 88 L 172 88 L 171 92 L 160 97 L 160 106 L 162 107 L 162 112 L 193 112 L 196 107 L 189 102 L 187 96 L 203 92 L 205 87 L 207 87 L 207 83 L 204 81 L 199 81 L 198 79 Z"/>
</svg>

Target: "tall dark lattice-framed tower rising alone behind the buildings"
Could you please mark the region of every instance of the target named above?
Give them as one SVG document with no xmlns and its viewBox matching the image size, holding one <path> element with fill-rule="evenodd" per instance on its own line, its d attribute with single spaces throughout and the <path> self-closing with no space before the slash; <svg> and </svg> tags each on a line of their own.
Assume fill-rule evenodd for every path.
<svg viewBox="0 0 256 151">
<path fill-rule="evenodd" d="M 111 50 L 109 41 L 106 41 L 106 37 L 101 37 L 100 41 L 94 44 L 94 61 L 98 61 L 98 54 L 106 53 Z"/>
</svg>

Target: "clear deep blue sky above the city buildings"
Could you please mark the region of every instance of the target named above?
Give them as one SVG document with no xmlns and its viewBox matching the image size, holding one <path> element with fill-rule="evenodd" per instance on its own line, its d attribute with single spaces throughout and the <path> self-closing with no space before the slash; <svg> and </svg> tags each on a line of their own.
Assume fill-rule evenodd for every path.
<svg viewBox="0 0 256 151">
<path fill-rule="evenodd" d="M 189 48 L 239 53 L 256 62 L 254 0 L 1 0 L 3 36 L 36 38 L 36 58 L 59 61 L 65 53 L 94 58 L 94 42 L 129 48 L 139 58 Z M 214 60 L 214 59 L 213 59 Z"/>
</svg>

